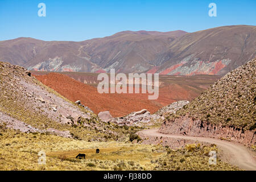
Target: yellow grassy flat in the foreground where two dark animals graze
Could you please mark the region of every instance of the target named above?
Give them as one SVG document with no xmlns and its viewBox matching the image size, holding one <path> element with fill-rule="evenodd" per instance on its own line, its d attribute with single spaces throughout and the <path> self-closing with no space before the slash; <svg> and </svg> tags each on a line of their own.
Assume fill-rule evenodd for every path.
<svg viewBox="0 0 256 182">
<path fill-rule="evenodd" d="M 237 170 L 208 153 L 216 146 L 191 144 L 180 150 L 161 145 L 126 142 L 88 142 L 56 135 L 20 133 L 0 126 L 0 170 Z M 100 154 L 95 154 L 100 148 Z M 45 151 L 46 165 L 38 164 Z M 79 153 L 86 159 L 76 159 Z"/>
</svg>

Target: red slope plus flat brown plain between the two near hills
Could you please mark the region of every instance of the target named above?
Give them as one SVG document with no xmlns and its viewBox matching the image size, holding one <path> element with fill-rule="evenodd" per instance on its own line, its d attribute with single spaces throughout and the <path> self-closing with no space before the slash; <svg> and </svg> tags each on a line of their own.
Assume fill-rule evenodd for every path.
<svg viewBox="0 0 256 182">
<path fill-rule="evenodd" d="M 161 107 L 179 100 L 191 101 L 199 96 L 218 76 L 160 76 L 159 98 L 148 100 L 148 94 L 99 94 L 96 73 L 32 72 L 39 81 L 62 96 L 75 102 L 80 100 L 98 114 L 109 110 L 113 117 L 122 117 L 133 111 L 147 109 L 155 113 Z M 76 80 L 72 79 L 75 78 Z M 85 83 L 85 84 L 84 84 Z M 110 104 L 111 103 L 111 104 Z"/>
</svg>

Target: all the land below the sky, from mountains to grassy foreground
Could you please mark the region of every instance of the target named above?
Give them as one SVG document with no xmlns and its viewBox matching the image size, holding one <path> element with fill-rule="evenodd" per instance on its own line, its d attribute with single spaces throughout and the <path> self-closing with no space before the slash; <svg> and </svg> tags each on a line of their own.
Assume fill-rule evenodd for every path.
<svg viewBox="0 0 256 182">
<path fill-rule="evenodd" d="M 0 170 L 256 171 L 255 38 L 239 25 L 0 41 Z M 159 97 L 98 93 L 110 69 L 159 73 Z"/>
</svg>

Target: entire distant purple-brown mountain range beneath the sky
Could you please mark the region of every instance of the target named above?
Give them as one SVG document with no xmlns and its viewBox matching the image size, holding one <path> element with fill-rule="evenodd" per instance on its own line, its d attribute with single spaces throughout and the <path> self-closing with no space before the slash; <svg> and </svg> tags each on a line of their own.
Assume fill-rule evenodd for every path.
<svg viewBox="0 0 256 182">
<path fill-rule="evenodd" d="M 256 57 L 256 26 L 123 31 L 82 42 L 18 38 L 0 42 L 0 60 L 36 71 L 224 75 Z"/>
</svg>

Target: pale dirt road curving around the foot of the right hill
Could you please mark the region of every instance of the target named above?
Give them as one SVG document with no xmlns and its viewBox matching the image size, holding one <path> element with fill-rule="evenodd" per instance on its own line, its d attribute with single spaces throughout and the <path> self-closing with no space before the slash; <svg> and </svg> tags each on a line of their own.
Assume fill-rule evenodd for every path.
<svg viewBox="0 0 256 182">
<path fill-rule="evenodd" d="M 229 161 L 229 163 L 234 164 L 242 169 L 249 171 L 256 171 L 256 162 L 253 156 L 251 156 L 250 152 L 245 146 L 241 144 L 236 144 L 232 142 L 226 142 L 224 140 L 207 138 L 207 137 L 189 137 L 183 135 L 171 135 L 171 134 L 162 134 L 159 133 L 158 129 L 151 130 L 143 130 L 140 131 L 144 135 L 148 137 L 168 137 L 168 138 L 179 138 L 179 139 L 189 139 L 189 140 L 197 140 L 199 142 L 207 142 L 216 144 L 225 155 L 225 158 Z"/>
</svg>

